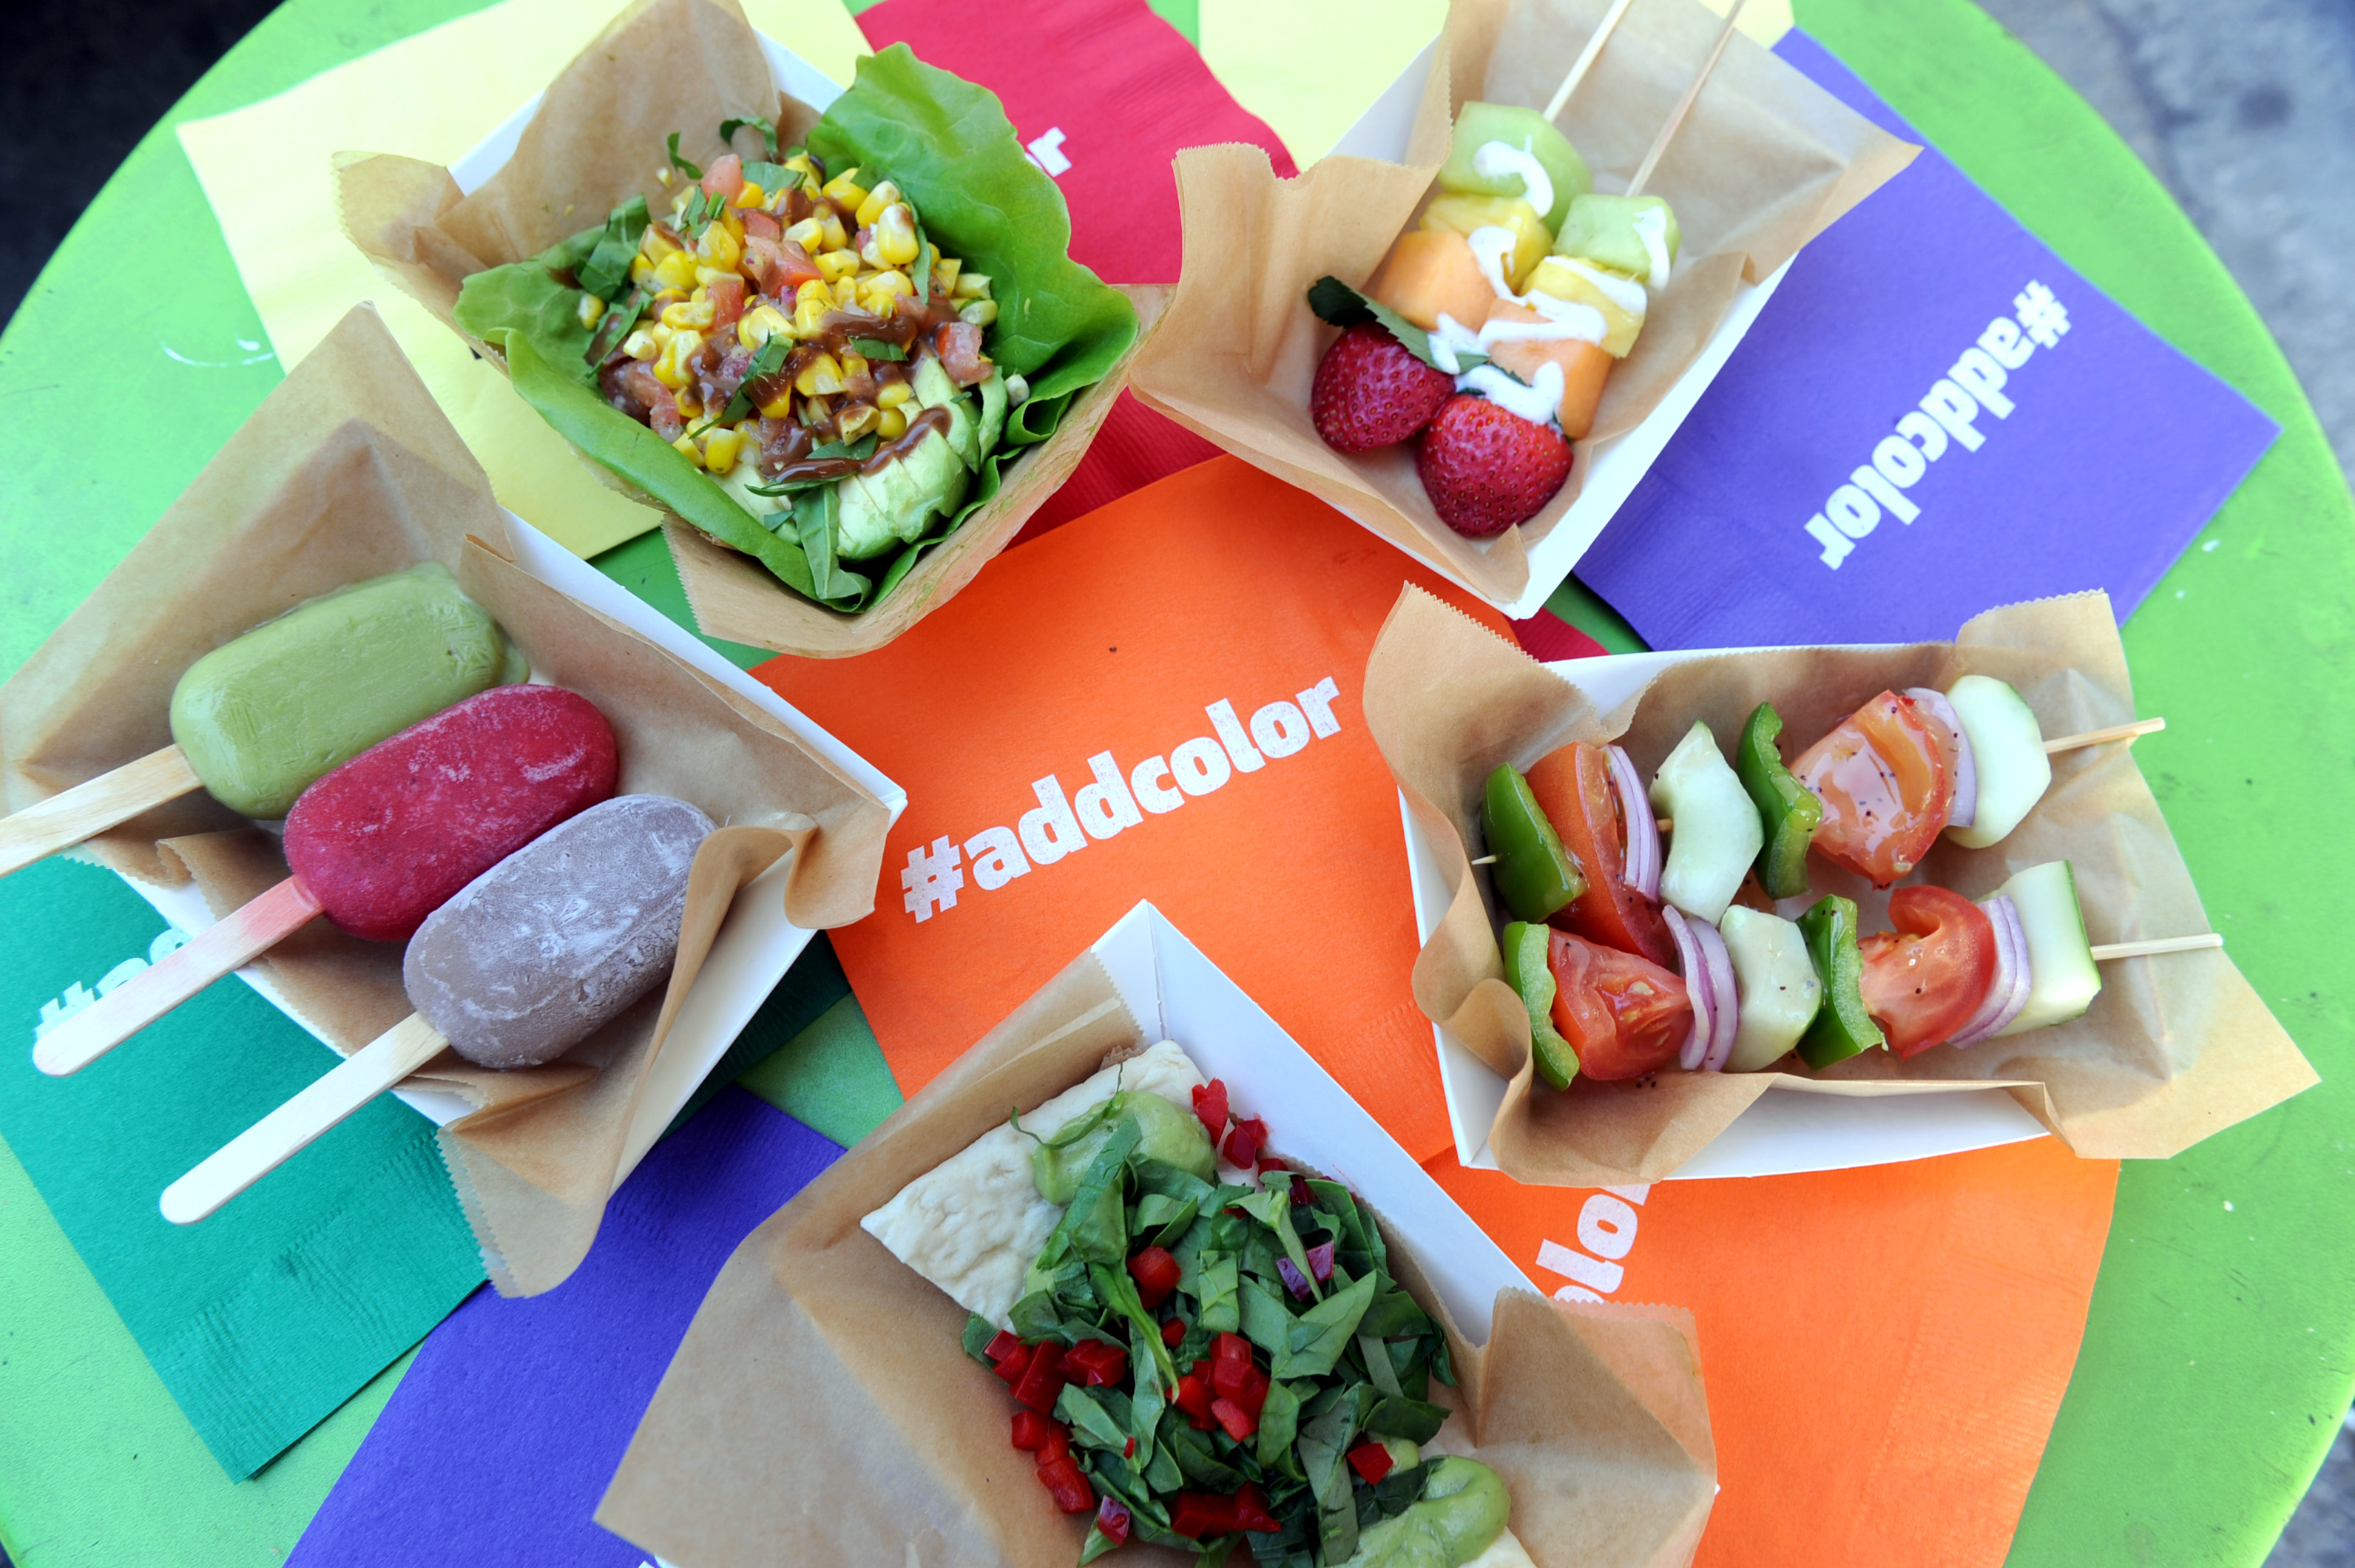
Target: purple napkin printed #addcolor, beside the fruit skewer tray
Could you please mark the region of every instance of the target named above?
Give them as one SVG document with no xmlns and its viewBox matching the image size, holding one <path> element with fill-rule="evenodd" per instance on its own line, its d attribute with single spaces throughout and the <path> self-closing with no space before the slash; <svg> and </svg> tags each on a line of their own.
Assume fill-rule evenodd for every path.
<svg viewBox="0 0 2355 1568">
<path fill-rule="evenodd" d="M 1922 139 L 1804 33 L 1776 54 Z M 1578 577 L 1653 647 L 1950 638 L 2079 589 L 2124 617 L 2273 436 L 1924 148 L 1799 252 Z"/>
</svg>

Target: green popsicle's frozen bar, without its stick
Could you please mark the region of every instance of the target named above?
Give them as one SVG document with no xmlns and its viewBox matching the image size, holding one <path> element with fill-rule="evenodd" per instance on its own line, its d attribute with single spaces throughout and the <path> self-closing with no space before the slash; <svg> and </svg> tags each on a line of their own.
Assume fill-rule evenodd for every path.
<svg viewBox="0 0 2355 1568">
<path fill-rule="evenodd" d="M 221 805 L 285 817 L 327 770 L 523 676 L 523 655 L 490 614 L 426 563 L 214 647 L 172 690 L 172 739 Z"/>
</svg>

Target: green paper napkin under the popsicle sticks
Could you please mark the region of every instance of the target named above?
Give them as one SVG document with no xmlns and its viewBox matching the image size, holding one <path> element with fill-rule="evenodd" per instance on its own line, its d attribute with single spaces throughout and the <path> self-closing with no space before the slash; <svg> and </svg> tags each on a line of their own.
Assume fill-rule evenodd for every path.
<svg viewBox="0 0 2355 1568">
<path fill-rule="evenodd" d="M 203 1224 L 158 1194 L 334 1057 L 224 979 L 71 1078 L 42 1008 L 144 961 L 165 921 L 113 873 L 0 881 L 0 1137 L 233 1479 L 268 1464 L 483 1281 L 433 1125 L 379 1099 Z"/>
</svg>

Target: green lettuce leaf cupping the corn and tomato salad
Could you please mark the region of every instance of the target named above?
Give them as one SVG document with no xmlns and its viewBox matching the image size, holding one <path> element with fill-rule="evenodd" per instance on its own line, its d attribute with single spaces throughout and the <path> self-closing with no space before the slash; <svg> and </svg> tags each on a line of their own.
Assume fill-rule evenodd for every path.
<svg viewBox="0 0 2355 1568">
<path fill-rule="evenodd" d="M 725 129 L 739 146 L 772 134 L 758 120 L 730 120 Z M 744 174 L 756 184 L 763 172 L 782 179 L 782 165 L 801 151 L 770 141 L 749 155 Z M 853 530 L 845 544 L 843 511 L 860 504 L 848 497 L 853 480 L 761 494 L 782 487 L 754 490 L 744 483 L 749 464 L 730 469 L 728 480 L 714 478 L 695 440 L 666 440 L 610 400 L 598 363 L 617 358 L 650 304 L 652 280 L 631 273 L 650 224 L 643 198 L 537 257 L 469 275 L 455 320 L 504 356 L 516 391 L 579 452 L 711 539 L 761 560 L 796 593 L 862 612 L 996 497 L 1006 466 L 1046 443 L 1072 400 L 1114 372 L 1137 337 L 1137 313 L 1126 294 L 1069 259 L 1062 191 L 1022 153 L 996 94 L 926 66 L 907 45 L 860 61 L 855 85 L 808 132 L 805 151 L 824 172 L 857 170 L 862 186 L 885 179 L 897 186 L 918 214 L 923 259 L 907 268 L 918 290 L 933 257 L 954 257 L 994 297 L 982 341 L 996 374 L 958 388 L 975 405 L 970 419 L 982 440 L 958 443 L 968 473 L 954 476 L 954 494 L 935 492 L 937 511 L 923 516 L 921 532 L 911 525 L 911 537 Z M 676 155 L 676 137 L 671 158 L 681 172 L 695 170 Z M 645 315 L 648 325 L 655 320 Z M 756 365 L 777 370 L 775 356 Z M 718 412 L 688 436 L 711 428 Z M 730 403 L 728 412 L 747 410 Z M 874 443 L 869 433 L 864 450 L 836 443 L 817 454 L 862 459 Z"/>
</svg>

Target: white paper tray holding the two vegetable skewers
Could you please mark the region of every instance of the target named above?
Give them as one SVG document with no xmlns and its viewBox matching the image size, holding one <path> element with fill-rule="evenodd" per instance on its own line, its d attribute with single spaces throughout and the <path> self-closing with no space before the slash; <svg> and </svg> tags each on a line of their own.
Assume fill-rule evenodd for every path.
<svg viewBox="0 0 2355 1568">
<path fill-rule="evenodd" d="M 1684 659 L 1745 650 L 1686 650 L 1606 655 L 1599 659 L 1564 659 L 1550 671 L 1583 690 L 1608 713 L 1644 690 L 1658 671 Z M 1415 937 L 1429 942 L 1448 911 L 1448 892 L 1429 838 L 1399 800 L 1406 822 L 1406 873 L 1415 897 Z M 1439 1083 L 1448 1097 L 1448 1125 L 1455 1132 L 1455 1158 L 1479 1170 L 1495 1170 L 1488 1151 L 1488 1128 L 1505 1099 L 1505 1081 L 1486 1062 L 1432 1026 L 1439 1045 Z M 1962 1154 L 2044 1137 L 2044 1123 L 2030 1116 L 2006 1090 L 1941 1090 L 1903 1095 L 1886 1083 L 1870 1099 L 1851 1095 L 1839 1083 L 1804 1083 L 1785 1078 L 1743 1111 L 1700 1154 L 1677 1168 L 1670 1180 L 1792 1175 L 1799 1170 L 1849 1170 L 1856 1165 L 1893 1165 L 1933 1154 Z"/>
</svg>

